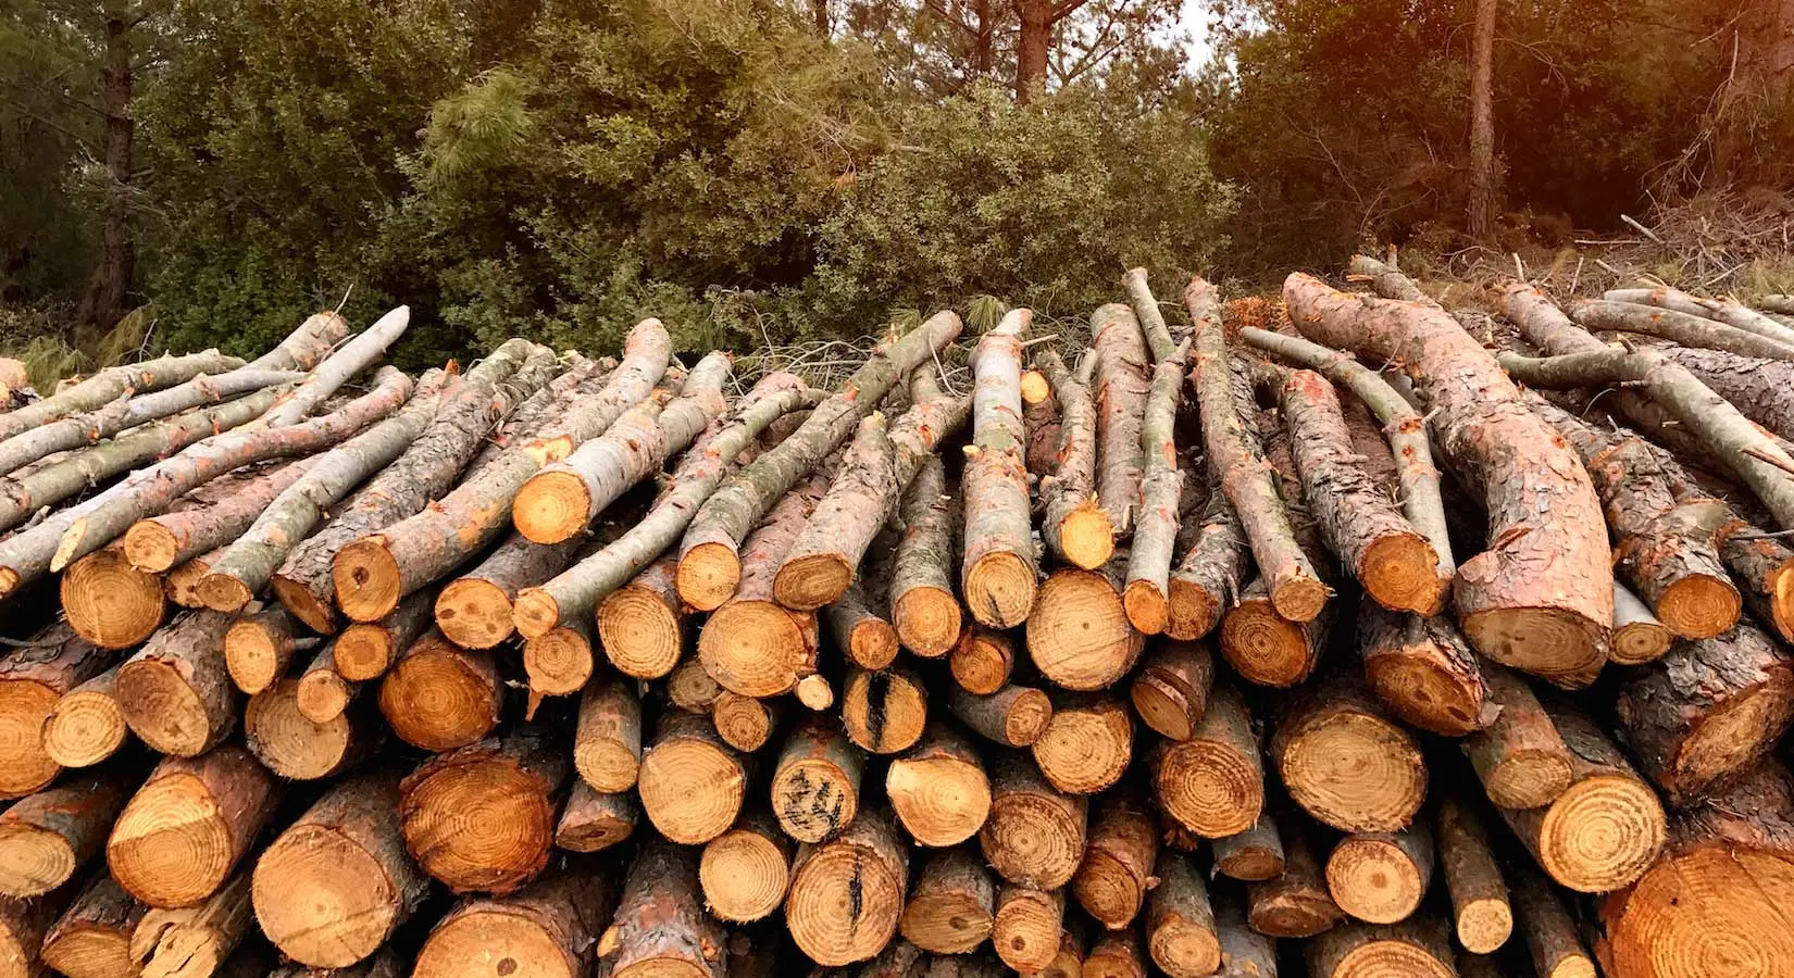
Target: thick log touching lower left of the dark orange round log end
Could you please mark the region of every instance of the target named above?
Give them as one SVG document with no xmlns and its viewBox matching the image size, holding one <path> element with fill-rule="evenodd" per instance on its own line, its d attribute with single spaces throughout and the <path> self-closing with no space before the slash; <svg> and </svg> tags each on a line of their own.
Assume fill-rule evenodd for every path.
<svg viewBox="0 0 1794 978">
<path fill-rule="evenodd" d="M 343 781 L 262 851 L 255 919 L 285 956 L 348 967 L 429 895 L 429 878 L 405 856 L 398 781 L 389 770 Z"/>
</svg>

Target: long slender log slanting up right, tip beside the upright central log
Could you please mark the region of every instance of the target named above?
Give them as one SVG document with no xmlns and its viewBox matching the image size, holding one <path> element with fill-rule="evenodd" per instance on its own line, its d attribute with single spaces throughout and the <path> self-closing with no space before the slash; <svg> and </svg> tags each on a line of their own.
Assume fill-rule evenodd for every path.
<svg viewBox="0 0 1794 978">
<path fill-rule="evenodd" d="M 904 373 L 933 359 L 958 334 L 960 318 L 944 310 L 886 339 L 795 432 L 723 483 L 680 542 L 678 590 L 685 603 L 705 612 L 719 608 L 748 567 L 739 554 L 748 531 L 854 432 Z"/>
</svg>

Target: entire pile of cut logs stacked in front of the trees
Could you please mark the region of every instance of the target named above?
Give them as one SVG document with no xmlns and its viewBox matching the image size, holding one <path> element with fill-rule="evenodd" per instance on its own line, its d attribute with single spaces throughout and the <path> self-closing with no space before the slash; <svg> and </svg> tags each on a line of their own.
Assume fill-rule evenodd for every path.
<svg viewBox="0 0 1794 978">
<path fill-rule="evenodd" d="M 1794 330 L 1353 273 L 0 415 L 0 978 L 1794 974 Z"/>
</svg>

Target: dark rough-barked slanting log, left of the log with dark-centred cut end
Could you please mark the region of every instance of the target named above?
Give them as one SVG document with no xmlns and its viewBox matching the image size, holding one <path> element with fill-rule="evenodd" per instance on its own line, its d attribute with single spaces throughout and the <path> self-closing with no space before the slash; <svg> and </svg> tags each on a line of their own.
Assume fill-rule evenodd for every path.
<svg viewBox="0 0 1794 978">
<path fill-rule="evenodd" d="M 330 633 L 337 626 L 335 583 L 330 563 L 350 542 L 384 529 L 443 497 L 486 443 L 492 427 L 529 402 L 535 395 L 576 388 L 596 364 L 576 362 L 560 379 L 554 352 L 529 341 L 501 345 L 465 377 L 448 382 L 436 420 L 405 454 L 382 468 L 343 504 L 328 526 L 287 553 L 269 581 L 274 596 L 314 632 Z M 551 379 L 554 382 L 551 384 Z M 518 411 L 522 415 L 522 411 Z"/>
</svg>

